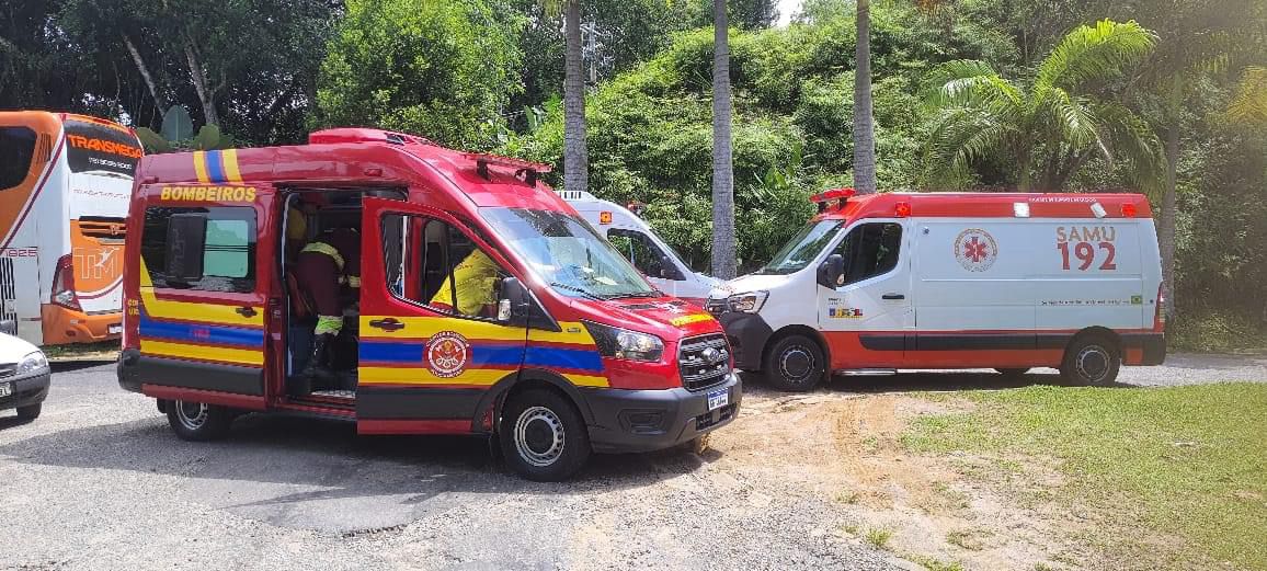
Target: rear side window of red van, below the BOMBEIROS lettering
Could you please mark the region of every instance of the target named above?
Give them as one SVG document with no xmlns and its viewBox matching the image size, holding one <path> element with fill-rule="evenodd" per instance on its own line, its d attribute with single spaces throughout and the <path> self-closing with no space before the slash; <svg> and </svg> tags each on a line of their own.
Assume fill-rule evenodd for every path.
<svg viewBox="0 0 1267 571">
<path fill-rule="evenodd" d="M 169 271 L 169 224 L 174 215 L 203 216 L 201 275 L 199 280 L 181 280 Z M 177 216 L 179 219 L 179 216 Z M 255 209 L 250 206 L 166 208 L 146 209 L 146 228 L 141 238 L 141 257 L 155 287 L 203 291 L 255 291 Z"/>
</svg>

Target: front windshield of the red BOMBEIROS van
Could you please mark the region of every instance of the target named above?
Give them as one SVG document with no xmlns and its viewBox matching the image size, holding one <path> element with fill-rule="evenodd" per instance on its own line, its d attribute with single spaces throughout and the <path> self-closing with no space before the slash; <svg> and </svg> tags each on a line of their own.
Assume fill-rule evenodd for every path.
<svg viewBox="0 0 1267 571">
<path fill-rule="evenodd" d="M 480 214 L 560 294 L 594 299 L 660 295 L 628 260 L 578 218 L 521 208 L 484 208 Z"/>
</svg>

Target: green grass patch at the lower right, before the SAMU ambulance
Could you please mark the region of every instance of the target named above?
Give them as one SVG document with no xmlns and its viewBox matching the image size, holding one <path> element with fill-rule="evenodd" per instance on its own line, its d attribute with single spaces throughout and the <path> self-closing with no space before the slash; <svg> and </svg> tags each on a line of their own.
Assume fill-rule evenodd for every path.
<svg viewBox="0 0 1267 571">
<path fill-rule="evenodd" d="M 1052 489 L 1055 501 L 1096 510 L 1117 528 L 1095 534 L 1107 552 L 1163 567 L 1267 568 L 1267 385 L 1033 386 L 963 396 L 976 410 L 917 418 L 902 443 L 1002 458 L 998 480 L 1025 470 L 1015 458 L 1054 457 L 1067 476 Z M 1183 541 L 1157 549 L 1162 537 Z"/>
</svg>

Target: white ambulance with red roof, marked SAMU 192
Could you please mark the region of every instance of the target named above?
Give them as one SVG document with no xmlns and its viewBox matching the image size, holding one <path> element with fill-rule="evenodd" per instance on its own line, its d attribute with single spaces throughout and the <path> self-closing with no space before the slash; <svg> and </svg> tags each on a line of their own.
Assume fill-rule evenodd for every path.
<svg viewBox="0 0 1267 571">
<path fill-rule="evenodd" d="M 818 214 L 708 310 L 737 368 L 831 373 L 1057 367 L 1109 384 L 1166 358 L 1161 256 L 1134 194 L 816 195 Z"/>
</svg>

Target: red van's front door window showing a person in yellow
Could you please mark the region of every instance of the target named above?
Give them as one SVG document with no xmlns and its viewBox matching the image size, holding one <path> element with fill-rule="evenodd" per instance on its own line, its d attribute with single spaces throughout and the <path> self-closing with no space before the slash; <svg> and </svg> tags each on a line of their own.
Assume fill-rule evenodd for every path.
<svg viewBox="0 0 1267 571">
<path fill-rule="evenodd" d="M 405 214 L 383 216 L 383 260 L 393 295 L 468 318 L 495 318 L 509 276 L 457 228 Z"/>
</svg>

